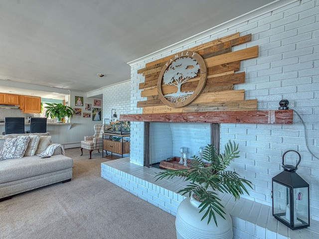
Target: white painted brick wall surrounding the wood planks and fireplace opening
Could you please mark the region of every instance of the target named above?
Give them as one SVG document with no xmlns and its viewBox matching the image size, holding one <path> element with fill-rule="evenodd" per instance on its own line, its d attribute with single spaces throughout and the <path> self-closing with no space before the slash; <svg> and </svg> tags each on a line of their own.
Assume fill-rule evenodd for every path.
<svg viewBox="0 0 319 239">
<path fill-rule="evenodd" d="M 247 100 L 257 99 L 258 110 L 276 110 L 280 100 L 288 99 L 290 108 L 299 112 L 307 125 L 310 149 L 319 156 L 318 12 L 318 0 L 292 1 L 272 12 L 238 22 L 182 48 L 159 54 L 132 66 L 130 114 L 142 112 L 136 105 L 138 101 L 145 100 L 140 97 L 141 90 L 138 89 L 144 77 L 137 74 L 137 70 L 144 68 L 145 63 L 234 32 L 240 32 L 241 35 L 251 33 L 253 40 L 233 47 L 233 51 L 259 45 L 259 56 L 241 62 L 240 72 L 246 72 L 246 81 L 235 85 L 234 89 L 244 89 Z M 131 130 L 136 132 L 131 136 L 131 161 L 143 165 L 143 123 L 135 122 L 133 126 Z M 187 130 L 196 132 L 196 128 Z M 293 125 L 221 124 L 220 136 L 221 149 L 229 139 L 239 143 L 241 157 L 236 159 L 230 168 L 254 184 L 254 190 L 249 191 L 250 196 L 244 197 L 266 205 L 272 203 L 271 179 L 282 171 L 283 153 L 290 149 L 299 151 L 302 162 L 297 172 L 310 183 L 311 218 L 319 220 L 319 159 L 307 150 L 304 127 L 296 114 Z M 181 138 L 173 138 L 174 140 L 187 141 Z M 190 145 L 189 148 L 196 146 L 198 143 Z M 176 145 L 173 149 L 174 154 L 178 147 L 179 145 Z"/>
</svg>

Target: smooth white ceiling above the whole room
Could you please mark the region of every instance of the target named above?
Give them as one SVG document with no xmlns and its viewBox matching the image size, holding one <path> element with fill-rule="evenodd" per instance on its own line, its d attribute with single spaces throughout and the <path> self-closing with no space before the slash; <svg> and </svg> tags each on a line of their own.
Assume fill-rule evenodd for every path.
<svg viewBox="0 0 319 239">
<path fill-rule="evenodd" d="M 0 92 L 20 83 L 90 92 L 129 80 L 127 62 L 272 1 L 2 1 Z"/>
</svg>

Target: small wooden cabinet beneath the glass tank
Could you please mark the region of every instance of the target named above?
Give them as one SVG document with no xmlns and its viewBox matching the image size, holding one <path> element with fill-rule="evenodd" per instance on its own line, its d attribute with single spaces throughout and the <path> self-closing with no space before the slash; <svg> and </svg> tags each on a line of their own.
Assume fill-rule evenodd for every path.
<svg viewBox="0 0 319 239">
<path fill-rule="evenodd" d="M 112 137 L 121 137 L 120 141 L 112 140 Z M 113 134 L 113 133 L 103 133 L 103 150 L 102 157 L 104 156 L 104 150 L 107 152 L 120 154 L 130 153 L 130 141 L 124 141 L 123 137 L 130 137 L 130 134 Z"/>
</svg>

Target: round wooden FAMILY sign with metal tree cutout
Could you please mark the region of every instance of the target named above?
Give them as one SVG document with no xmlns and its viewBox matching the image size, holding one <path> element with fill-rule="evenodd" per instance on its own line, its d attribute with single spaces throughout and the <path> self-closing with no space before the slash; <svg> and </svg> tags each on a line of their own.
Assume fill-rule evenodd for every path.
<svg viewBox="0 0 319 239">
<path fill-rule="evenodd" d="M 199 54 L 191 51 L 177 53 L 169 59 L 160 72 L 158 80 L 160 100 L 172 108 L 187 106 L 202 91 L 206 75 L 206 65 Z M 186 83 L 185 90 L 182 90 L 182 85 Z"/>
</svg>

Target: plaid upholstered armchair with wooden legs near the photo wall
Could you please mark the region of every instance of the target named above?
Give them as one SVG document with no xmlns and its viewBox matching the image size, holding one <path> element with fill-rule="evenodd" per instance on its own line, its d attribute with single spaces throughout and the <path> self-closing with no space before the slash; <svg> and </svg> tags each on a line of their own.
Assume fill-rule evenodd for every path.
<svg viewBox="0 0 319 239">
<path fill-rule="evenodd" d="M 81 140 L 81 155 L 83 155 L 83 148 L 90 151 L 90 158 L 92 158 L 92 151 L 97 149 L 100 152 L 102 149 L 102 138 L 104 132 L 104 124 L 94 125 L 94 135 L 84 136 L 84 140 Z"/>
</svg>

